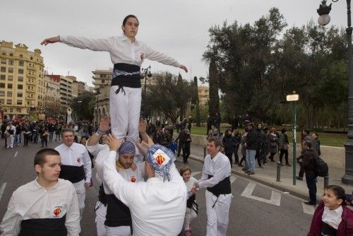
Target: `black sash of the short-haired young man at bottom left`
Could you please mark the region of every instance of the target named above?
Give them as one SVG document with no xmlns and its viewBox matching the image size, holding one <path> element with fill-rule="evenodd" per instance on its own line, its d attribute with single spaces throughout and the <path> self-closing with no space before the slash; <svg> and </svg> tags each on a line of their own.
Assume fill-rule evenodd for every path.
<svg viewBox="0 0 353 236">
<path fill-rule="evenodd" d="M 66 236 L 66 215 L 61 218 L 22 220 L 18 236 Z"/>
</svg>

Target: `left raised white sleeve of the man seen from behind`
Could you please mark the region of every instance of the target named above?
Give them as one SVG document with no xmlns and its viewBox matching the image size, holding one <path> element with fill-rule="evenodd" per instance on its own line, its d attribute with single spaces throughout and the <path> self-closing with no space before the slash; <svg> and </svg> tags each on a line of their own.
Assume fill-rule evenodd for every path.
<svg viewBox="0 0 353 236">
<path fill-rule="evenodd" d="M 134 199 L 134 189 L 137 188 L 136 183 L 127 182 L 116 171 L 116 151 L 109 151 L 104 161 L 104 181 L 107 187 L 114 192 L 117 199 L 122 201 L 126 206 Z"/>
</svg>

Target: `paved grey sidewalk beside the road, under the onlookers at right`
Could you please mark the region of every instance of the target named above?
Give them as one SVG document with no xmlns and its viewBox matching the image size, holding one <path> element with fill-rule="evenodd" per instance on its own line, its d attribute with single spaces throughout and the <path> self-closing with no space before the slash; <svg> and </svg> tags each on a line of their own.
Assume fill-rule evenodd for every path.
<svg viewBox="0 0 353 236">
<path fill-rule="evenodd" d="M 197 160 L 203 163 L 203 146 L 191 145 L 191 155 L 190 158 L 193 160 Z M 241 158 L 241 155 L 239 155 Z M 256 161 L 256 169 L 255 175 L 246 175 L 238 165 L 233 165 L 232 173 L 234 175 L 239 175 L 241 177 L 245 177 L 247 179 L 251 179 L 255 182 L 260 182 L 261 184 L 265 184 L 267 186 L 273 187 L 280 191 L 289 192 L 294 196 L 299 196 L 302 199 L 309 199 L 309 190 L 306 187 L 306 181 L 304 177 L 304 181 L 296 179 L 296 185 L 293 185 L 293 167 L 281 167 L 280 173 L 280 182 L 276 182 L 277 178 L 277 161 L 279 160 L 279 155 L 275 155 L 275 163 L 268 162 L 263 165 L 264 169 L 261 170 L 258 168 L 258 163 Z M 234 156 L 233 156 L 234 161 Z M 292 157 L 289 156 L 289 163 L 292 165 Z M 244 165 L 244 164 L 243 164 Z M 299 164 L 296 166 L 296 172 L 299 172 Z M 345 175 L 345 170 L 340 168 L 329 167 L 329 180 L 328 184 L 340 185 L 345 189 L 346 194 L 352 194 L 353 187 L 347 184 L 342 184 L 341 178 Z M 323 177 L 318 177 L 318 182 L 316 183 L 317 199 L 321 199 L 323 196 Z"/>
</svg>

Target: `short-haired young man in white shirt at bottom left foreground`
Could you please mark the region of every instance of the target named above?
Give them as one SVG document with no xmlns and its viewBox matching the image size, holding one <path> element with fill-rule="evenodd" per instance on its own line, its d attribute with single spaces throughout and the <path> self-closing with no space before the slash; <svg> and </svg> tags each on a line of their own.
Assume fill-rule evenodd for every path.
<svg viewBox="0 0 353 236">
<path fill-rule="evenodd" d="M 79 235 L 76 191 L 71 182 L 59 179 L 60 165 L 60 155 L 52 148 L 35 154 L 38 177 L 13 192 L 0 235 Z"/>
</svg>

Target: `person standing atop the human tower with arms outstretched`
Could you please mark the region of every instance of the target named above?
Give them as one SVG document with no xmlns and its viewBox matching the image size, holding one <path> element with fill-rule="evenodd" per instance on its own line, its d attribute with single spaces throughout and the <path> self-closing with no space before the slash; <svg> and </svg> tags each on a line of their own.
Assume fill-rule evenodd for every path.
<svg viewBox="0 0 353 236">
<path fill-rule="evenodd" d="M 145 59 L 179 67 L 188 72 L 186 66 L 176 59 L 157 52 L 145 43 L 136 40 L 139 22 L 136 16 L 124 18 L 123 35 L 107 39 L 90 39 L 72 35 L 49 37 L 41 45 L 62 42 L 71 47 L 109 52 L 114 70 L 109 95 L 109 114 L 112 118 L 112 133 L 117 138 L 128 136 L 135 141 L 138 137 L 138 119 L 141 107 L 140 66 Z"/>
</svg>

